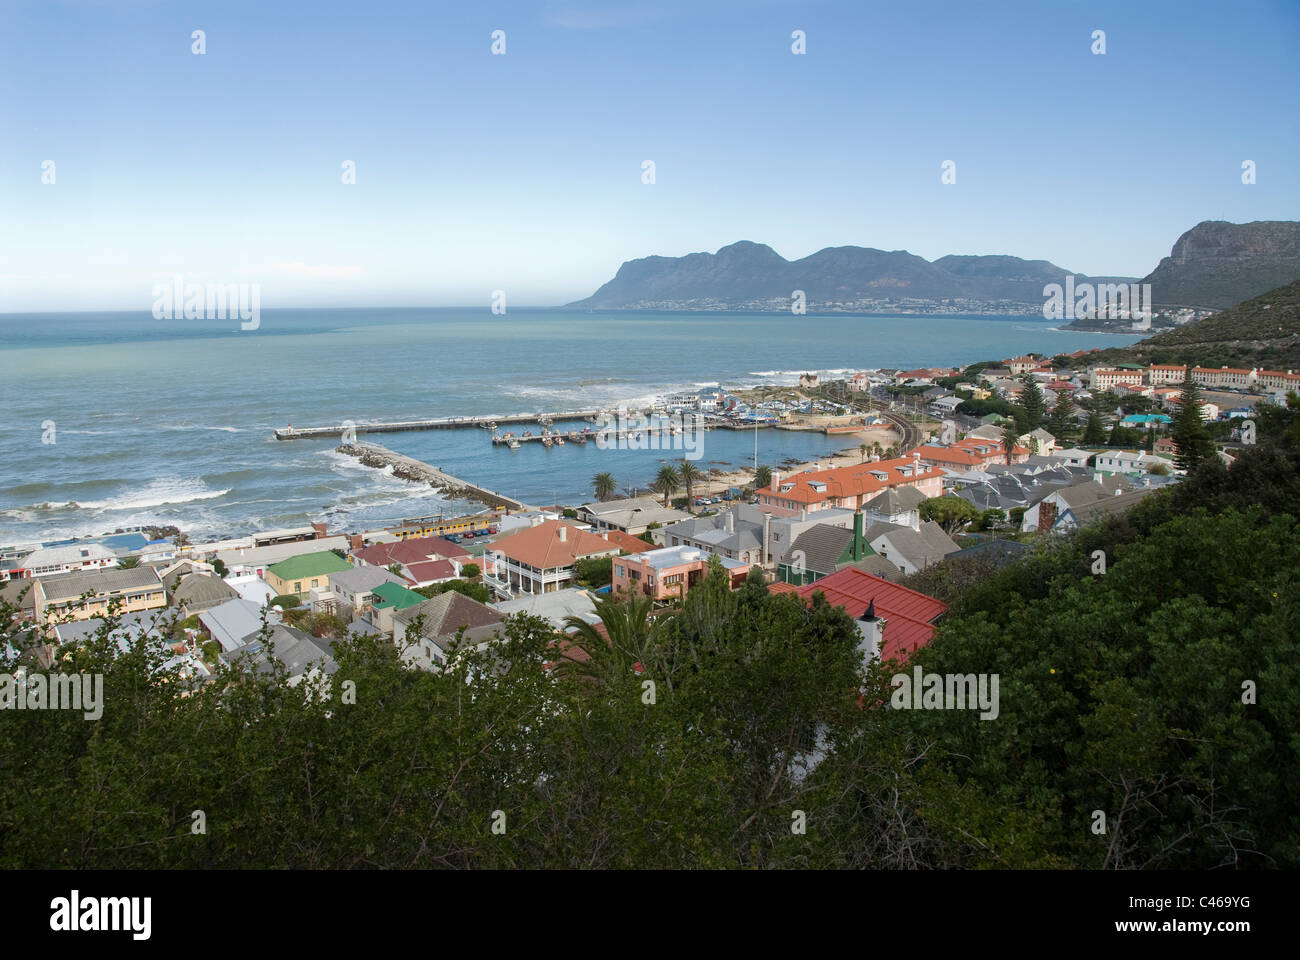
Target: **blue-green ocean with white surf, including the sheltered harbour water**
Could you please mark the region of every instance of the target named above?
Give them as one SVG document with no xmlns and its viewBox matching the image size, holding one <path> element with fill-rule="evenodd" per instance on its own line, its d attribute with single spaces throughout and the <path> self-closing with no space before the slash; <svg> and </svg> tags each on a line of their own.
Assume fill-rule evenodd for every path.
<svg viewBox="0 0 1300 960">
<path fill-rule="evenodd" d="M 1034 317 L 610 313 L 512 308 L 265 310 L 0 316 L 5 414 L 0 544 L 172 524 L 191 540 L 326 522 L 360 529 L 465 513 L 426 487 L 277 441 L 294 424 L 547 412 L 699 388 L 793 384 L 866 367 L 956 366 L 1131 343 Z M 511 428 L 521 432 L 525 428 Z M 647 485 L 663 450 L 493 447 L 486 431 L 361 434 L 532 503 L 580 502 L 593 475 Z M 760 463 L 828 457 L 842 438 L 759 431 Z M 711 431 L 697 466 L 750 463 L 754 434 Z"/>
</svg>

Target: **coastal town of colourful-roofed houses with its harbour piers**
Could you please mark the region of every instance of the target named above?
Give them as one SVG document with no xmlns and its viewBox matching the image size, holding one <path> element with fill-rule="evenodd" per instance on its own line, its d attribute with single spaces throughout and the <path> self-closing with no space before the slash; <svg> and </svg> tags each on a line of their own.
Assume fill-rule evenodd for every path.
<svg viewBox="0 0 1300 960">
<path fill-rule="evenodd" d="M 880 619 L 864 656 L 906 661 L 946 609 L 909 585 L 919 575 L 972 558 L 996 570 L 1179 483 L 1190 466 L 1178 427 L 1188 390 L 1201 455 L 1228 464 L 1253 441 L 1257 408 L 1300 390 L 1292 371 L 1108 367 L 1089 363 L 1091 353 L 672 394 L 640 411 L 644 421 L 693 418 L 701 431 L 755 437 L 819 431 L 845 446 L 805 463 L 764 464 L 755 453 L 751 467 L 731 471 L 703 472 L 682 457 L 633 496 L 615 496 L 604 473 L 590 498 L 549 505 L 399 458 L 399 476 L 472 493 L 484 509 L 205 542 L 142 528 L 16 544 L 0 549 L 3 600 L 36 637 L 42 667 L 112 618 L 124 649 L 157 645 L 188 680 L 265 667 L 273 652 L 296 683 L 330 675 L 344 637 L 391 641 L 412 669 L 439 670 L 465 644 L 489 648 L 519 613 L 545 618 L 576 650 L 563 639 L 576 622 L 601 623 L 602 597 L 647 597 L 671 611 L 711 570 L 732 588 L 759 571 L 774 593 L 819 592 L 855 619 L 870 607 Z M 555 444 L 602 440 L 592 423 L 536 419 L 536 434 L 491 418 L 463 425 L 494 440 L 515 431 Z M 680 449 L 677 427 L 651 433 L 628 428 L 620 440 L 644 434 Z M 344 440 L 341 449 L 369 466 L 393 466 L 391 451 Z"/>
</svg>

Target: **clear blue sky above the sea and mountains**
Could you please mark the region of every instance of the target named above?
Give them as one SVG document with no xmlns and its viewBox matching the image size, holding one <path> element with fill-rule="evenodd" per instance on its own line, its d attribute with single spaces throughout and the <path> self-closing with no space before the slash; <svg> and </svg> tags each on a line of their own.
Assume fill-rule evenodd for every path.
<svg viewBox="0 0 1300 960">
<path fill-rule="evenodd" d="M 1297 49 L 1297 0 L 0 0 L 0 312 L 555 306 L 740 239 L 1144 276 L 1300 219 Z"/>
</svg>

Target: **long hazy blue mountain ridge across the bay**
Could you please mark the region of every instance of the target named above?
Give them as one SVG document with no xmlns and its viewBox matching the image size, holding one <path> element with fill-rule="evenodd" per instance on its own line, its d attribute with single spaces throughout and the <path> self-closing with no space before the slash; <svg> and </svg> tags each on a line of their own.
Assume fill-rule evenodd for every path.
<svg viewBox="0 0 1300 960">
<path fill-rule="evenodd" d="M 590 310 L 789 310 L 802 290 L 810 310 L 918 312 L 1040 312 L 1043 286 L 1070 271 L 1018 256 L 944 256 L 931 263 L 905 250 L 827 247 L 786 260 L 763 243 L 741 241 L 716 254 L 646 256 L 624 263 L 586 299 Z M 1131 282 L 1084 277 L 1076 282 Z"/>
</svg>

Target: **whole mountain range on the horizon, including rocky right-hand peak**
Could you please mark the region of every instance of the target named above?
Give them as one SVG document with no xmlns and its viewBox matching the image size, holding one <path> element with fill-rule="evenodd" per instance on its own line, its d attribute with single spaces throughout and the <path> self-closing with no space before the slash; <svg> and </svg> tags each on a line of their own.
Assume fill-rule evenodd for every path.
<svg viewBox="0 0 1300 960">
<path fill-rule="evenodd" d="M 586 299 L 586 310 L 789 310 L 802 290 L 809 310 L 1035 313 L 1043 287 L 1071 274 L 1048 260 L 949 255 L 926 260 L 905 250 L 827 247 L 786 260 L 741 241 L 716 254 L 625 261 Z M 1231 306 L 1300 277 L 1300 224 L 1206 221 L 1184 233 L 1170 256 L 1138 281 L 1072 273 L 1075 285 L 1149 282 L 1157 306 Z"/>
</svg>

